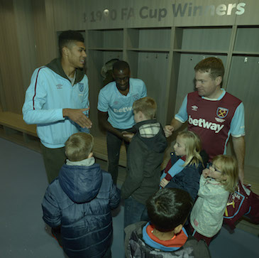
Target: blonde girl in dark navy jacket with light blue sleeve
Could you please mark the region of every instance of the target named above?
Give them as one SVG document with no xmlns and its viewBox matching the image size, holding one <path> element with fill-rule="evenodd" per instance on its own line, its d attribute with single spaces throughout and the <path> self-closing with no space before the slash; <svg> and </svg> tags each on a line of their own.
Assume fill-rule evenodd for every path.
<svg viewBox="0 0 259 258">
<path fill-rule="evenodd" d="M 202 144 L 193 131 L 181 131 L 174 145 L 164 173 L 160 178 L 162 188 L 186 190 L 195 200 L 199 190 L 199 178 L 204 168 L 200 152 Z"/>
</svg>

